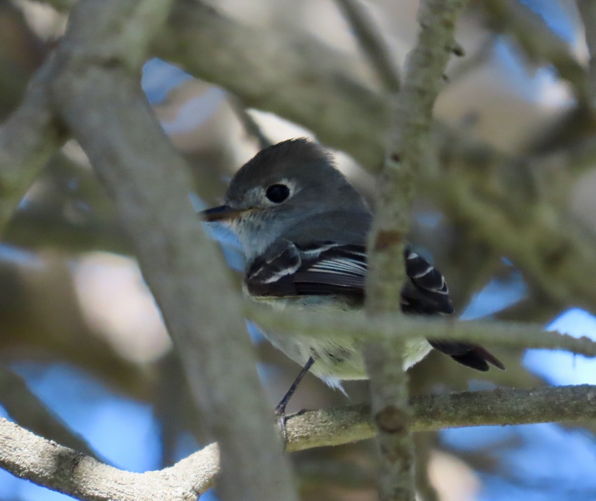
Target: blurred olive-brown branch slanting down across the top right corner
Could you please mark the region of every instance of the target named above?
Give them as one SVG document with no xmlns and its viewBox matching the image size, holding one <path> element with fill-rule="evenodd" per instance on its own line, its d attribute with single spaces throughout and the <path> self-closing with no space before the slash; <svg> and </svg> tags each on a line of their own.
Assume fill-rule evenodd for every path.
<svg viewBox="0 0 596 501">
<path fill-rule="evenodd" d="M 573 57 L 569 45 L 552 32 L 540 15 L 519 0 L 482 0 L 481 4 L 495 31 L 511 35 L 533 62 L 552 64 L 561 78 L 573 86 L 576 97 L 586 101 L 586 72 Z"/>
</svg>

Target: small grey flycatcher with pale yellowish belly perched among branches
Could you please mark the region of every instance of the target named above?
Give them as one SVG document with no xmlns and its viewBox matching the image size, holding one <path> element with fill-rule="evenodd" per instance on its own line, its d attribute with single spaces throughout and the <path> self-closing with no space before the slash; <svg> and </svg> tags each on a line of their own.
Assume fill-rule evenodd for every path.
<svg viewBox="0 0 596 501">
<path fill-rule="evenodd" d="M 321 145 L 296 138 L 259 151 L 231 179 L 224 204 L 204 210 L 202 216 L 228 226 L 237 237 L 246 257 L 243 291 L 253 300 L 281 310 L 346 314 L 362 310 L 366 239 L 373 214 Z M 439 270 L 409 245 L 403 257 L 407 278 L 401 291 L 402 312 L 452 315 L 454 307 Z M 278 415 L 284 415 L 309 371 L 342 391 L 342 381 L 367 378 L 361 341 L 263 334 L 303 366 L 275 408 Z M 439 340 L 408 341 L 403 369 L 432 348 L 478 371 L 488 371 L 489 364 L 505 369 L 477 344 Z"/>
</svg>

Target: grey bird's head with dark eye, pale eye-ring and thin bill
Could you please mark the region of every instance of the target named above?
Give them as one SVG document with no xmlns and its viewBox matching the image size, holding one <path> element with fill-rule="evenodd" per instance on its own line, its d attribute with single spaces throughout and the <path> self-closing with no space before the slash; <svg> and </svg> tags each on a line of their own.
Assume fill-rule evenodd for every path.
<svg viewBox="0 0 596 501">
<path fill-rule="evenodd" d="M 230 182 L 224 204 L 202 214 L 207 221 L 228 225 L 250 257 L 317 214 L 367 210 L 330 154 L 307 139 L 290 139 L 244 164 Z"/>
</svg>

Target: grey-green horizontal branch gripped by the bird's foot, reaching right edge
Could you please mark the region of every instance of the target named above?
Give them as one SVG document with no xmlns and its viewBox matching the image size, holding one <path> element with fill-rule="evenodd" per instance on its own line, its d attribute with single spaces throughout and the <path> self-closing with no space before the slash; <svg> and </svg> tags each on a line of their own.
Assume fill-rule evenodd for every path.
<svg viewBox="0 0 596 501">
<path fill-rule="evenodd" d="M 412 431 L 585 421 L 596 417 L 596 386 L 463 391 L 412 397 Z M 377 432 L 365 405 L 305 410 L 288 418 L 288 451 L 350 443 Z"/>
</svg>

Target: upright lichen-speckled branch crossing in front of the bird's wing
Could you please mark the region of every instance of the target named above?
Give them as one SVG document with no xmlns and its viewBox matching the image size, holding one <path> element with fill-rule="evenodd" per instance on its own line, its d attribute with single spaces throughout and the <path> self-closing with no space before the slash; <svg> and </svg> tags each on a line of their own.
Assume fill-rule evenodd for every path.
<svg viewBox="0 0 596 501">
<path fill-rule="evenodd" d="M 377 211 L 368 237 L 366 310 L 369 315 L 400 310 L 405 282 L 403 247 L 410 226 L 414 179 L 429 144 L 432 109 L 449 56 L 457 45 L 455 21 L 464 1 L 423 0 L 420 34 L 408 55 L 400 92 L 393 95 L 393 124 L 383 172 L 378 179 Z M 384 73 L 379 69 L 379 73 Z M 397 89 L 393 86 L 393 90 Z M 414 500 L 414 444 L 409 431 L 406 345 L 401 336 L 367 343 L 364 359 L 371 379 L 371 408 L 381 451 L 381 501 Z"/>
</svg>

